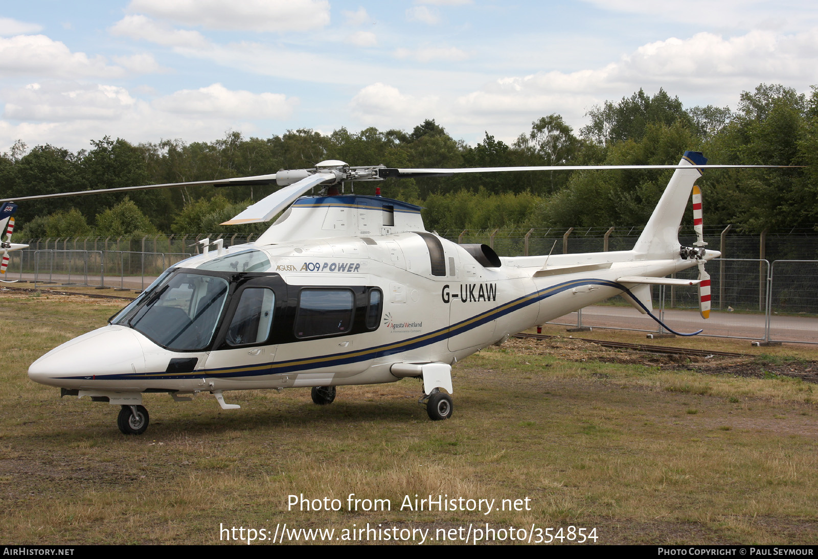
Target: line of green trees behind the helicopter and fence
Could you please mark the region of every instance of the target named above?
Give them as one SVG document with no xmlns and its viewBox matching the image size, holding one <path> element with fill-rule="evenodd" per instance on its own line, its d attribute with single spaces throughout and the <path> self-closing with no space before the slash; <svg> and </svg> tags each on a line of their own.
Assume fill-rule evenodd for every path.
<svg viewBox="0 0 818 559">
<path fill-rule="evenodd" d="M 799 94 L 761 84 L 743 92 L 736 110 L 695 106 L 677 96 L 640 89 L 588 111 L 574 131 L 559 114 L 532 123 L 511 145 L 485 132 L 471 146 L 452 138 L 434 119 L 411 132 L 329 135 L 308 129 L 281 136 L 219 140 L 162 140 L 131 144 L 105 137 L 72 153 L 53 145 L 30 149 L 18 141 L 0 155 L 4 197 L 205 181 L 311 168 L 325 159 L 398 168 L 528 165 L 675 164 L 685 150 L 711 163 L 802 165 L 771 170 L 711 170 L 699 180 L 705 221 L 736 230 L 814 228 L 818 214 L 818 89 Z M 357 194 L 384 195 L 424 206 L 430 230 L 640 226 L 653 211 L 672 171 L 506 172 L 446 178 L 388 179 L 353 185 Z M 349 186 L 347 186 L 348 188 Z M 260 232 L 267 224 L 218 226 L 274 187 L 196 186 L 90 195 L 20 203 L 21 237 Z M 689 210 L 690 211 L 690 210 Z"/>
</svg>

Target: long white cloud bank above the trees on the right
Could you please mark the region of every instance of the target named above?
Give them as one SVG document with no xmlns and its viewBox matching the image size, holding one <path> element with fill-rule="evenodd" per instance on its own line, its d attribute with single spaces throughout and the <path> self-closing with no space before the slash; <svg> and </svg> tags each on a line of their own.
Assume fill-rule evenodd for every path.
<svg viewBox="0 0 818 559">
<path fill-rule="evenodd" d="M 640 87 L 664 87 L 685 105 L 726 105 L 758 83 L 784 83 L 804 91 L 818 82 L 818 32 L 775 35 L 753 31 L 734 38 L 696 34 L 651 42 L 596 69 L 538 72 L 499 78 L 477 91 L 443 97 L 442 122 L 461 133 L 492 131 L 513 140 L 519 124 L 561 114 L 577 128 L 593 105 L 617 100 Z M 440 113 L 435 113 L 440 114 Z M 514 132 L 514 129 L 518 132 Z"/>
</svg>

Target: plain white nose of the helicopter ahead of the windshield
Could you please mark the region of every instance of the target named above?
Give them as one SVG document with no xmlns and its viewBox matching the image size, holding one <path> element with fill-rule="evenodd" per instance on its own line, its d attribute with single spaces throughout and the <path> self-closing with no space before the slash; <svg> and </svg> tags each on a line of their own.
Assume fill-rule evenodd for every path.
<svg viewBox="0 0 818 559">
<path fill-rule="evenodd" d="M 109 325 L 52 349 L 31 364 L 29 378 L 72 388 L 101 375 L 144 372 L 144 352 L 133 330 Z"/>
</svg>

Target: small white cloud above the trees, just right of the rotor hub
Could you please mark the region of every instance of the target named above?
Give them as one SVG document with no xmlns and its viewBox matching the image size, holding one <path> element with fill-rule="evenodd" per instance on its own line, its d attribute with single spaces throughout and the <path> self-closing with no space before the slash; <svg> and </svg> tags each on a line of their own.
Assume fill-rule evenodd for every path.
<svg viewBox="0 0 818 559">
<path fill-rule="evenodd" d="M 436 96 L 405 95 L 397 87 L 373 83 L 358 92 L 349 107 L 362 123 L 388 128 L 414 125 L 419 119 L 439 114 L 437 105 Z"/>
</svg>

